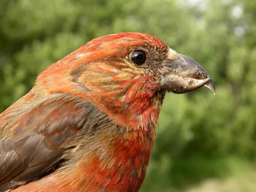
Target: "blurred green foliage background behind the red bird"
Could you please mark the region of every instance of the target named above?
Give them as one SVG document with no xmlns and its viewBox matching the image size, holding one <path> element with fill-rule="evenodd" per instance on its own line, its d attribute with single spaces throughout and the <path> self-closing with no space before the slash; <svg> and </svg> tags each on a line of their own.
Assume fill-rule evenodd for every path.
<svg viewBox="0 0 256 192">
<path fill-rule="evenodd" d="M 0 0 L 0 112 L 48 65 L 121 31 L 161 38 L 216 86 L 166 96 L 140 191 L 256 191 L 255 0 Z"/>
</svg>

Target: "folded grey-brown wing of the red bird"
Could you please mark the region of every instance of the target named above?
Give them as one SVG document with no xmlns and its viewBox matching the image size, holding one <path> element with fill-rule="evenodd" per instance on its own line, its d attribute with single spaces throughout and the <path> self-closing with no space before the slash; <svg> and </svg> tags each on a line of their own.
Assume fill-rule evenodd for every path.
<svg viewBox="0 0 256 192">
<path fill-rule="evenodd" d="M 83 127 L 86 103 L 71 96 L 58 96 L 39 103 L 15 117 L 0 116 L 0 191 L 37 179 L 54 169 L 68 143 Z M 13 117 L 13 118 L 11 118 Z"/>
</svg>

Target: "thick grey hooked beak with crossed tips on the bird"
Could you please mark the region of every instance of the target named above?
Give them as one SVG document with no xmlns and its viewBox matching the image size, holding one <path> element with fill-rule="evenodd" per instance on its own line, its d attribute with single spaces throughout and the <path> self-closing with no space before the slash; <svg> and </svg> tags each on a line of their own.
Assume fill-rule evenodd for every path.
<svg viewBox="0 0 256 192">
<path fill-rule="evenodd" d="M 163 63 L 161 89 L 180 94 L 208 87 L 215 95 L 215 86 L 208 73 L 195 60 L 178 54 L 178 59 Z"/>
</svg>

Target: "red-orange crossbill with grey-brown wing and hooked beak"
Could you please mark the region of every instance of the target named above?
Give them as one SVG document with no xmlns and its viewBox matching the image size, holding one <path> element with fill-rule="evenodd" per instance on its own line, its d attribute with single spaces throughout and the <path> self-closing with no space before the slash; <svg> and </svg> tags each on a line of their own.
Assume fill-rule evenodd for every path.
<svg viewBox="0 0 256 192">
<path fill-rule="evenodd" d="M 159 38 L 95 38 L 54 64 L 0 114 L 0 191 L 136 192 L 167 93 L 215 86 Z"/>
</svg>

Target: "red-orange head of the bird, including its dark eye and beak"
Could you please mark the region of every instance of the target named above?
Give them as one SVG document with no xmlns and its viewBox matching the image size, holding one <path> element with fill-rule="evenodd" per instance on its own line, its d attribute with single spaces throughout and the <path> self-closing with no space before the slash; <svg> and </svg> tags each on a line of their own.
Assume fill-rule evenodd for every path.
<svg viewBox="0 0 256 192">
<path fill-rule="evenodd" d="M 93 39 L 45 69 L 37 84 L 88 99 L 128 128 L 154 127 L 167 92 L 206 86 L 215 94 L 202 66 L 143 33 Z"/>
</svg>

